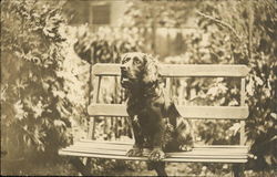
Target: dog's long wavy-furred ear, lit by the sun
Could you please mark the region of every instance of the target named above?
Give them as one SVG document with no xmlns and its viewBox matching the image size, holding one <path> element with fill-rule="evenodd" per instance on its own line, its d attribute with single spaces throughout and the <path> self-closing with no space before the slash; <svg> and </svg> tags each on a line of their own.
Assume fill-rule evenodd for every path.
<svg viewBox="0 0 277 177">
<path fill-rule="evenodd" d="M 158 79 L 157 61 L 152 55 L 148 54 L 145 54 L 143 56 L 143 61 L 144 61 L 144 71 L 142 81 L 145 84 L 156 82 Z"/>
</svg>

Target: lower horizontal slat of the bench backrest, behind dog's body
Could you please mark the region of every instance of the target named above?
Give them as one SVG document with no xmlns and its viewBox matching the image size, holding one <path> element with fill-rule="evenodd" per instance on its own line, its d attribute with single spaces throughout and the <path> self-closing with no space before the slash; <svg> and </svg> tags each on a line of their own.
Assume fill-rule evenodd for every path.
<svg viewBox="0 0 277 177">
<path fill-rule="evenodd" d="M 185 118 L 218 118 L 244 119 L 248 116 L 247 106 L 179 106 L 182 117 Z M 91 116 L 129 116 L 126 106 L 122 104 L 91 104 L 88 107 Z"/>
</svg>

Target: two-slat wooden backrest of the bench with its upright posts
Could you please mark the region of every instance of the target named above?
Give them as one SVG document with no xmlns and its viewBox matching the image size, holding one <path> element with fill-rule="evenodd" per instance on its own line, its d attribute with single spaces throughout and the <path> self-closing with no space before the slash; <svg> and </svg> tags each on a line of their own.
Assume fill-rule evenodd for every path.
<svg viewBox="0 0 277 177">
<path fill-rule="evenodd" d="M 245 77 L 249 69 L 246 65 L 227 64 L 162 64 L 160 73 L 166 77 L 165 90 L 170 93 L 171 77 L 239 77 L 240 104 L 239 106 L 184 106 L 177 105 L 177 110 L 185 118 L 215 118 L 240 119 L 240 145 L 245 144 L 245 118 L 248 116 L 248 107 L 245 105 Z M 99 91 L 103 76 L 121 75 L 120 64 L 93 65 L 93 100 L 88 107 L 90 116 L 127 116 L 126 106 L 122 104 L 99 104 Z M 91 133 L 91 132 L 90 132 Z M 89 133 L 89 134 L 90 134 Z"/>
</svg>

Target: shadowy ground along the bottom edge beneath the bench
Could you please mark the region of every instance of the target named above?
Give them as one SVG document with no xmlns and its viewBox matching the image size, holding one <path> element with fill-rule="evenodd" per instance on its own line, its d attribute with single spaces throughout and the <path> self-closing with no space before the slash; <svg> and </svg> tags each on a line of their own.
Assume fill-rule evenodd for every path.
<svg viewBox="0 0 277 177">
<path fill-rule="evenodd" d="M 140 168 L 134 169 L 110 169 L 105 170 L 102 168 L 101 173 L 98 173 L 96 176 L 156 176 L 154 170 L 146 170 L 145 164 L 138 164 Z M 192 164 L 191 164 L 192 165 Z M 70 165 L 66 160 L 55 164 L 43 164 L 30 165 L 24 164 L 23 166 L 12 166 L 13 168 L 2 168 L 1 175 L 20 175 L 20 176 L 78 176 L 79 173 L 75 168 Z M 17 170 L 16 168 L 20 168 Z M 12 170 L 13 169 L 13 170 Z M 195 173 L 192 170 L 189 164 L 184 163 L 172 163 L 166 166 L 166 171 L 170 176 L 205 176 L 205 177 L 232 177 L 230 170 L 222 169 L 216 173 L 212 173 L 206 166 L 202 166 L 201 170 Z M 276 176 L 277 171 L 254 171 L 246 170 L 246 177 L 273 177 Z"/>
</svg>

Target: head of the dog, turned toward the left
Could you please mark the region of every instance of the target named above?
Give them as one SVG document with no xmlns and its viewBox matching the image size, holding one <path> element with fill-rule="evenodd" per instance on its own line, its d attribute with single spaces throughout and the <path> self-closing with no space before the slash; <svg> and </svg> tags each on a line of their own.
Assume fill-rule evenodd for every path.
<svg viewBox="0 0 277 177">
<path fill-rule="evenodd" d="M 125 53 L 121 61 L 121 84 L 132 87 L 136 84 L 151 84 L 158 79 L 157 61 L 148 54 L 132 52 Z"/>
</svg>

